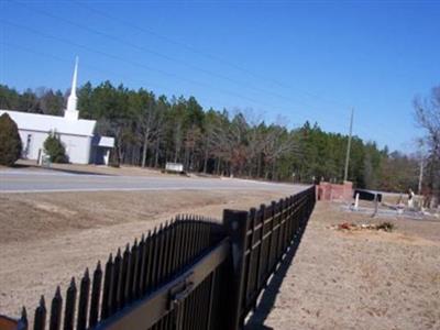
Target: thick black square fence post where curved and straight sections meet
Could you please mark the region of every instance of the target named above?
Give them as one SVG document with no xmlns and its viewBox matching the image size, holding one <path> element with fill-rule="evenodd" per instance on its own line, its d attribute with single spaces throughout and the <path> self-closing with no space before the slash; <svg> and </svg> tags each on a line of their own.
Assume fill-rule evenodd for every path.
<svg viewBox="0 0 440 330">
<path fill-rule="evenodd" d="M 246 211 L 223 210 L 223 226 L 231 239 L 232 250 L 232 290 L 230 317 L 228 329 L 238 330 L 243 328 L 243 287 L 244 287 L 244 252 L 246 249 L 246 231 L 249 227 L 249 215 Z"/>
</svg>

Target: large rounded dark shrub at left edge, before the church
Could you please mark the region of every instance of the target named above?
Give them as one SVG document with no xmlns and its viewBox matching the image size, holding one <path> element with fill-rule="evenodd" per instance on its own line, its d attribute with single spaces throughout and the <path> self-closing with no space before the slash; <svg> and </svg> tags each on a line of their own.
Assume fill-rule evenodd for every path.
<svg viewBox="0 0 440 330">
<path fill-rule="evenodd" d="M 21 148 L 19 128 L 3 113 L 0 117 L 0 165 L 12 166 L 20 158 Z"/>
</svg>

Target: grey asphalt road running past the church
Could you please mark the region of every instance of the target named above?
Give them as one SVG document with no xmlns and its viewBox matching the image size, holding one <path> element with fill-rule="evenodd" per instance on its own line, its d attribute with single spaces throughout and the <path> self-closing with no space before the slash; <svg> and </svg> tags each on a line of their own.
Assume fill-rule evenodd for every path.
<svg viewBox="0 0 440 330">
<path fill-rule="evenodd" d="M 132 190 L 286 190 L 305 189 L 300 185 L 272 184 L 242 179 L 195 178 L 179 176 L 110 176 L 72 174 L 54 170 L 0 170 L 0 194 L 57 191 Z"/>
</svg>

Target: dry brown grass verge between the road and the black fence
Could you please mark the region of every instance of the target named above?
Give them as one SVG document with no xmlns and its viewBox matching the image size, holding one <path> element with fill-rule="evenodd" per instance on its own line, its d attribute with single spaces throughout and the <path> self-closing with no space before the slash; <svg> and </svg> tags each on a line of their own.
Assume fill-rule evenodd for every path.
<svg viewBox="0 0 440 330">
<path fill-rule="evenodd" d="M 74 275 L 176 213 L 221 219 L 224 208 L 249 209 L 288 196 L 258 191 L 132 191 L 0 195 L 0 314 L 33 315 Z M 220 221 L 220 220 L 219 220 Z M 64 290 L 63 289 L 63 290 Z"/>
</svg>

